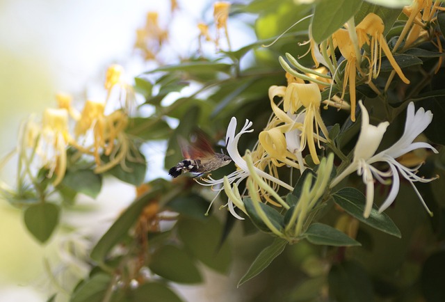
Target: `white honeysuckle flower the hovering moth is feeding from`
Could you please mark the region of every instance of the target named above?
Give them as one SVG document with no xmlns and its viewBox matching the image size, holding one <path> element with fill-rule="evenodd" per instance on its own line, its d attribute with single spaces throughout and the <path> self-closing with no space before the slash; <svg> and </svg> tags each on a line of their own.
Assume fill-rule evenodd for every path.
<svg viewBox="0 0 445 302">
<path fill-rule="evenodd" d="M 238 186 L 245 178 L 247 178 L 250 175 L 248 164 L 246 161 L 241 157 L 241 154 L 238 151 L 238 141 L 241 138 L 241 136 L 245 133 L 253 132 L 253 129 L 250 129 L 252 127 L 252 122 L 250 120 L 245 120 L 244 126 L 241 128 L 241 131 L 238 132 L 238 134 L 235 134 L 236 132 L 236 118 L 232 118 L 229 122 L 229 127 L 227 127 L 227 133 L 226 133 L 226 141 L 227 141 L 227 153 L 229 154 L 229 157 L 232 158 L 232 161 L 236 164 L 238 167 L 237 170 L 227 175 L 227 179 L 229 180 L 229 184 L 236 184 Z M 281 180 L 277 179 L 276 177 L 273 177 L 272 175 L 269 175 L 268 173 L 264 172 L 263 170 L 260 170 L 259 168 L 254 168 L 255 172 L 260 177 L 265 178 L 266 180 L 270 180 L 271 182 L 275 182 L 275 184 L 278 184 L 280 186 L 283 186 L 284 188 L 288 189 L 289 191 L 293 190 L 293 186 L 286 184 L 286 182 L 282 182 Z M 208 178 L 203 178 L 202 182 L 200 184 L 204 186 L 217 186 L 224 184 L 224 178 L 220 178 L 219 180 L 213 179 L 211 176 Z M 223 188 L 215 189 L 216 191 L 222 191 Z M 234 205 L 232 200 L 229 199 L 227 202 L 227 206 L 229 207 L 230 213 L 232 213 L 233 216 L 235 216 L 238 219 L 243 219 L 241 216 L 236 214 L 234 212 Z"/>
</svg>

